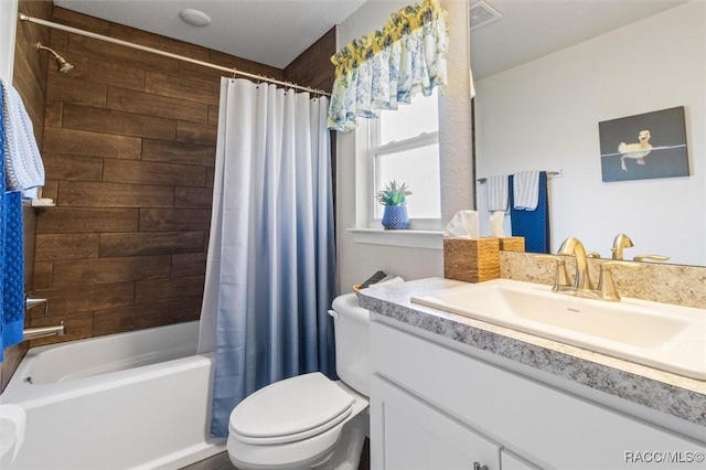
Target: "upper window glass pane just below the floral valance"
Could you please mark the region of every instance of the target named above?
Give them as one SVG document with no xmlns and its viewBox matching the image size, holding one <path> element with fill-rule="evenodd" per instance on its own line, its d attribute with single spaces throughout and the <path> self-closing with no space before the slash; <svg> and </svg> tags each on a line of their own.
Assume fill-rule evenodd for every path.
<svg viewBox="0 0 706 470">
<path fill-rule="evenodd" d="M 439 130 L 439 107 L 437 88 L 431 96 L 417 95 L 411 104 L 399 105 L 394 111 L 382 111 L 379 116 L 379 142 L 384 146 L 417 137 L 421 132 Z"/>
</svg>

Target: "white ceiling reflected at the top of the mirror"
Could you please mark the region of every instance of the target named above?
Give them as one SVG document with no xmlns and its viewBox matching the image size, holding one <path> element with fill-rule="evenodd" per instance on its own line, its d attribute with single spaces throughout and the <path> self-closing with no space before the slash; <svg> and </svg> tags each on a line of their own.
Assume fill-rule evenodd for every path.
<svg viewBox="0 0 706 470">
<path fill-rule="evenodd" d="M 485 0 L 503 18 L 471 31 L 473 78 L 512 68 L 686 1 Z M 474 3 L 477 0 L 470 0 Z"/>
</svg>

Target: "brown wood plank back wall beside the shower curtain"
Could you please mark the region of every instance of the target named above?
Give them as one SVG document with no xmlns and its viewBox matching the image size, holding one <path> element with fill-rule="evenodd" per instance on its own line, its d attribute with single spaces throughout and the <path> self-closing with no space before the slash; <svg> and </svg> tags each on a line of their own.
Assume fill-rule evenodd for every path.
<svg viewBox="0 0 706 470">
<path fill-rule="evenodd" d="M 53 21 L 246 72 L 281 70 L 54 8 Z M 67 334 L 196 320 L 211 222 L 221 73 L 53 30 L 34 290 Z"/>
</svg>

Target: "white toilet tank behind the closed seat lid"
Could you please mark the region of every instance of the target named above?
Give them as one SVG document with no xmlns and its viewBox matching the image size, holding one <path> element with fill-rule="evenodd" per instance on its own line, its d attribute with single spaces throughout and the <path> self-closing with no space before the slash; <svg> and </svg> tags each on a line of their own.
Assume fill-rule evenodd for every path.
<svg viewBox="0 0 706 470">
<path fill-rule="evenodd" d="M 371 313 L 359 306 L 355 293 L 336 297 L 331 308 L 335 372 L 347 386 L 370 396 L 371 361 L 367 344 Z"/>
</svg>

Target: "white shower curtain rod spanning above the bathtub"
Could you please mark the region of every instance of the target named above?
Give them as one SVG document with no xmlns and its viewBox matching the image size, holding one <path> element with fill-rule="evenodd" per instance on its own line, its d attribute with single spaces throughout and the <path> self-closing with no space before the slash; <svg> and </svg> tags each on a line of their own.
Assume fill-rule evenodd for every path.
<svg viewBox="0 0 706 470">
<path fill-rule="evenodd" d="M 92 33 L 89 31 L 79 30 L 77 28 L 66 26 L 64 24 L 54 23 L 52 21 L 42 20 L 40 18 L 29 17 L 29 15 L 26 15 L 24 13 L 20 13 L 19 17 L 20 17 L 21 21 L 29 21 L 30 23 L 35 23 L 35 24 L 41 24 L 43 26 L 54 28 L 56 30 L 62 30 L 62 31 L 66 31 L 66 32 L 69 32 L 69 33 L 79 34 L 79 35 L 87 36 L 87 38 L 93 38 L 93 39 L 96 39 L 96 40 L 99 40 L 99 41 L 110 42 L 113 44 L 124 45 L 126 47 L 137 49 L 139 51 L 145 51 L 145 52 L 149 52 L 149 53 L 152 53 L 152 54 L 162 55 L 164 57 L 171 57 L 171 58 L 175 58 L 178 61 L 190 62 L 192 64 L 202 65 L 204 67 L 215 68 L 215 70 L 222 71 L 222 72 L 227 72 L 229 74 L 233 74 L 234 76 L 235 75 L 242 75 L 244 77 L 248 77 L 248 78 L 253 78 L 253 79 L 257 79 L 257 81 L 261 81 L 261 82 L 274 83 L 276 85 L 281 85 L 281 86 L 287 87 L 287 88 L 296 88 L 296 89 L 301 89 L 301 90 L 304 90 L 304 92 L 310 92 L 310 93 L 313 93 L 313 94 L 317 94 L 317 95 L 331 96 L 330 93 L 327 93 L 327 92 L 324 92 L 322 89 L 310 88 L 308 86 L 301 86 L 301 85 L 297 85 L 297 84 L 293 84 L 293 83 L 290 83 L 290 82 L 282 82 L 282 81 L 278 81 L 278 79 L 275 79 L 275 78 L 266 77 L 266 76 L 263 76 L 263 75 L 255 75 L 255 74 L 250 74 L 250 73 L 247 73 L 247 72 L 240 72 L 235 67 L 224 67 L 222 65 L 215 65 L 215 64 L 211 64 L 208 62 L 203 62 L 203 61 L 199 61 L 199 60 L 191 58 L 191 57 L 184 57 L 183 55 L 172 54 L 171 52 L 160 51 L 159 49 L 147 47 L 145 45 L 133 44 L 131 42 L 122 41 L 122 40 L 119 40 L 119 39 L 104 36 L 103 34 L 96 34 L 96 33 Z"/>
</svg>

